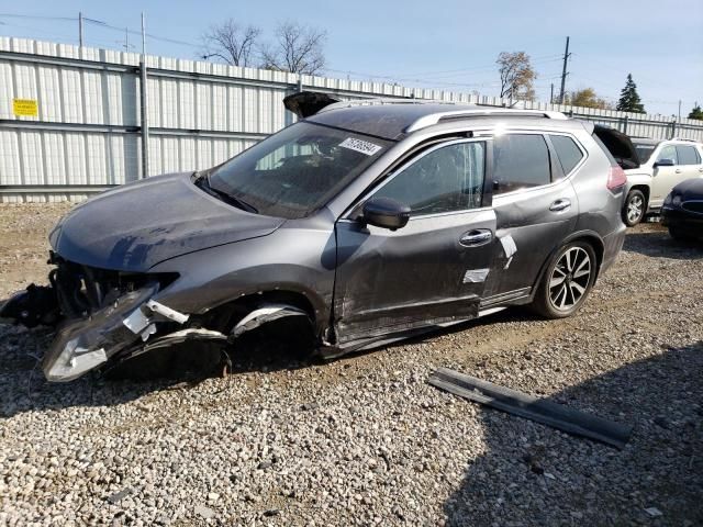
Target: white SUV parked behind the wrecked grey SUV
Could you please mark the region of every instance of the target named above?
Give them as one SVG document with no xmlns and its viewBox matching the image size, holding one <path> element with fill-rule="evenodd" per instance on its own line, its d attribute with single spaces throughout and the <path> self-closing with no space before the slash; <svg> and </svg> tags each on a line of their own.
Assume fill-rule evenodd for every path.
<svg viewBox="0 0 703 527">
<path fill-rule="evenodd" d="M 689 178 L 703 177 L 703 144 L 691 139 L 633 138 L 639 168 L 625 170 L 627 198 L 623 221 L 637 225 L 647 213 L 661 209 L 671 189 Z"/>
</svg>

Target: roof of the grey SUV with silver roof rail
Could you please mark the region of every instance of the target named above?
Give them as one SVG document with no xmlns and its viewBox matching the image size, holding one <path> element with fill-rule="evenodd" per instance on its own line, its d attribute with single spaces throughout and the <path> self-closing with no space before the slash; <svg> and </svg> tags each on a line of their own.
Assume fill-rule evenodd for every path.
<svg viewBox="0 0 703 527">
<path fill-rule="evenodd" d="M 440 123 L 476 117 L 481 117 L 483 121 L 495 117 L 501 121 L 529 117 L 533 122 L 573 123 L 562 113 L 543 110 L 514 110 L 437 101 L 399 102 L 383 99 L 338 102 L 322 109 L 306 121 L 395 141 Z"/>
</svg>

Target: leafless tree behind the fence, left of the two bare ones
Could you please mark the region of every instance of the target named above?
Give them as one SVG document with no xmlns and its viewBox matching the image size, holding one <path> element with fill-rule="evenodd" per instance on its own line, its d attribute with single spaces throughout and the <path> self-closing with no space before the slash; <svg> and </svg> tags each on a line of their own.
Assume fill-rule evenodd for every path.
<svg viewBox="0 0 703 527">
<path fill-rule="evenodd" d="M 260 34 L 258 27 L 244 27 L 234 19 L 227 19 L 219 25 L 212 25 L 202 35 L 203 58 L 217 57 L 232 66 L 250 66 Z"/>
</svg>

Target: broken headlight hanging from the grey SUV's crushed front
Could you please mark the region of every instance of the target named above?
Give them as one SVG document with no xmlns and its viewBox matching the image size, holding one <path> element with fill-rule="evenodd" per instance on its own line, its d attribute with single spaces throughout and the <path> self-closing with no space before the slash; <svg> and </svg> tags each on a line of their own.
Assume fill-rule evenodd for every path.
<svg viewBox="0 0 703 527">
<path fill-rule="evenodd" d="M 137 338 L 124 319 L 158 291 L 157 283 L 123 294 L 88 318 L 60 328 L 42 367 L 48 381 L 71 381 L 105 362 Z"/>
</svg>

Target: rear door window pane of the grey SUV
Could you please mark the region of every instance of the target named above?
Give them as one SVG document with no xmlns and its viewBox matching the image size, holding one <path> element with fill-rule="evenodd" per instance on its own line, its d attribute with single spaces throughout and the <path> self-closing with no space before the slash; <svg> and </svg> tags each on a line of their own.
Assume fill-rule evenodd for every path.
<svg viewBox="0 0 703 527">
<path fill-rule="evenodd" d="M 548 184 L 549 149 L 540 134 L 505 134 L 493 141 L 493 194 Z"/>
</svg>

